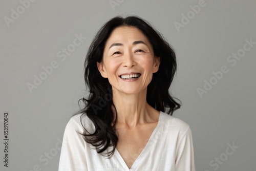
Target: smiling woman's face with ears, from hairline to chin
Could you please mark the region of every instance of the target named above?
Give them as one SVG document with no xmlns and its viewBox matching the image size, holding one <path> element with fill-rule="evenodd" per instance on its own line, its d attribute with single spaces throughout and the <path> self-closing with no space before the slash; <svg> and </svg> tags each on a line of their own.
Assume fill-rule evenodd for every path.
<svg viewBox="0 0 256 171">
<path fill-rule="evenodd" d="M 145 90 L 158 71 L 160 58 L 154 56 L 152 45 L 136 27 L 113 30 L 97 62 L 104 78 L 108 78 L 113 92 L 136 94 Z"/>
</svg>

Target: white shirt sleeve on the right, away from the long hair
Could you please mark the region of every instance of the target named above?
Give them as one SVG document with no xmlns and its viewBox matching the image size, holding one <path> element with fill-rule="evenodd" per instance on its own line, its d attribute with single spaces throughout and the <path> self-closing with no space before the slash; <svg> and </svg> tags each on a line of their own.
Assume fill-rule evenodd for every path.
<svg viewBox="0 0 256 171">
<path fill-rule="evenodd" d="M 178 143 L 175 167 L 177 171 L 195 171 L 194 147 L 190 127 Z"/>
</svg>

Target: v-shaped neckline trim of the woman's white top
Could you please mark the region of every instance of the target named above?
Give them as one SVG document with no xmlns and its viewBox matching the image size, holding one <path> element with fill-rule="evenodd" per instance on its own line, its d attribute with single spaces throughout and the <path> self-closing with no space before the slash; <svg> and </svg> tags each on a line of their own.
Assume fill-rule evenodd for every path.
<svg viewBox="0 0 256 171">
<path fill-rule="evenodd" d="M 160 127 L 161 127 L 161 122 L 162 122 L 162 117 L 163 117 L 163 113 L 160 111 L 160 114 L 159 114 L 159 118 L 158 118 L 158 123 L 157 123 L 157 126 L 155 127 L 154 131 L 152 132 L 151 136 L 150 136 L 150 139 L 148 139 L 146 145 L 144 146 L 142 152 L 140 153 L 140 155 L 137 157 L 137 159 L 134 161 L 134 163 L 132 164 L 131 168 L 129 168 L 127 166 L 127 164 L 125 163 L 125 161 L 123 160 L 122 156 L 120 155 L 120 153 L 118 152 L 117 148 L 115 149 L 115 153 L 114 155 L 117 157 L 117 159 L 119 160 L 119 162 L 121 163 L 121 165 L 126 169 L 126 170 L 134 170 L 136 169 L 140 162 L 143 160 L 144 156 L 146 155 L 146 153 L 148 153 L 151 145 L 153 144 L 154 142 L 154 139 L 156 138 L 157 136 L 157 133 L 159 132 L 160 130 Z"/>
</svg>

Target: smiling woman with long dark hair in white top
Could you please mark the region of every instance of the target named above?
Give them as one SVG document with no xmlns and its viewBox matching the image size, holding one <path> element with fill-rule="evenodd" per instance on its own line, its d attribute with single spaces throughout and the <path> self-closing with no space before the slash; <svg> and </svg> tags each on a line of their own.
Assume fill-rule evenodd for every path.
<svg viewBox="0 0 256 171">
<path fill-rule="evenodd" d="M 195 170 L 190 128 L 172 116 L 175 72 L 174 50 L 150 24 L 109 20 L 89 48 L 90 95 L 66 126 L 59 170 Z"/>
</svg>

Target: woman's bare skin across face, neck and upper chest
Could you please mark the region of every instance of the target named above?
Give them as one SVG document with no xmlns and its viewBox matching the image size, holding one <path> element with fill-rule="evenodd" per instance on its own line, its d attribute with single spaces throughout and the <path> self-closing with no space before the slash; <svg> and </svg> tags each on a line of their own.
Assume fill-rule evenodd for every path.
<svg viewBox="0 0 256 171">
<path fill-rule="evenodd" d="M 102 77 L 113 89 L 117 110 L 117 150 L 130 168 L 137 159 L 158 123 L 160 112 L 146 102 L 147 86 L 158 71 L 160 58 L 154 56 L 147 37 L 135 27 L 113 30 L 97 62 Z M 122 79 L 120 75 L 141 74 L 139 78 Z"/>
</svg>

